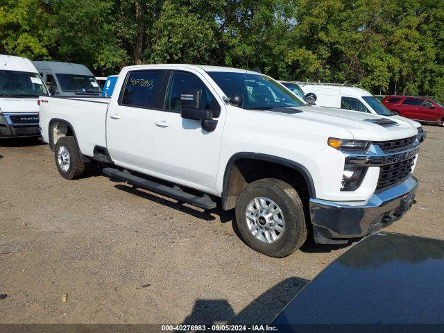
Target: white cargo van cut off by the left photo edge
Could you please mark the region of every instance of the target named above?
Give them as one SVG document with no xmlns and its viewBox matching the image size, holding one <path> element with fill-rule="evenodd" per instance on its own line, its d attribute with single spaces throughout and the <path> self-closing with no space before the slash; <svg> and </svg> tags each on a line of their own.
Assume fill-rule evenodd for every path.
<svg viewBox="0 0 444 333">
<path fill-rule="evenodd" d="M 42 95 L 48 90 L 30 60 L 0 55 L 0 139 L 40 137 Z"/>
</svg>

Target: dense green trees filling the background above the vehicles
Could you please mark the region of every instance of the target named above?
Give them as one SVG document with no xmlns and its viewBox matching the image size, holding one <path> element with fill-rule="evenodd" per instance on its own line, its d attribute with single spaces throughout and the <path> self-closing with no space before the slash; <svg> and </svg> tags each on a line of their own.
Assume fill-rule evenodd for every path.
<svg viewBox="0 0 444 333">
<path fill-rule="evenodd" d="M 444 99 L 442 0 L 0 0 L 0 53 L 259 68 Z"/>
</svg>

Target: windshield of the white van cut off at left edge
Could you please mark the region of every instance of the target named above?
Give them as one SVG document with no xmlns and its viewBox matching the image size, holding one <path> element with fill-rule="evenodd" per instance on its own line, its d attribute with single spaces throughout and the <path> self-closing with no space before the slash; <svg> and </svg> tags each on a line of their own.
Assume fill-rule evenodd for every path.
<svg viewBox="0 0 444 333">
<path fill-rule="evenodd" d="M 38 97 L 47 94 L 39 74 L 0 70 L 0 96 Z"/>
</svg>

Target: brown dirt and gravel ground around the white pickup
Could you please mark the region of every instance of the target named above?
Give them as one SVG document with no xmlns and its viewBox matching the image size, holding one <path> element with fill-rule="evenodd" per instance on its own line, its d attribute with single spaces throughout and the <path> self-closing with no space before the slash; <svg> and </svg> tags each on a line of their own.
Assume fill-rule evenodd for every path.
<svg viewBox="0 0 444 333">
<path fill-rule="evenodd" d="M 418 204 L 386 230 L 444 239 L 444 128 L 425 130 Z M 67 181 L 36 141 L 0 142 L 0 194 L 0 323 L 268 323 L 348 248 L 260 255 L 232 212 Z"/>
</svg>

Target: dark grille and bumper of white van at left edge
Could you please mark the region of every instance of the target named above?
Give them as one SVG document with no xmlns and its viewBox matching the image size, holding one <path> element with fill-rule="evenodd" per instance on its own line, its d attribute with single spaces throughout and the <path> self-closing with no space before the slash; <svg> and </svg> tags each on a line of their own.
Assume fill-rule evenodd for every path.
<svg viewBox="0 0 444 333">
<path fill-rule="evenodd" d="M 14 114 L 17 115 L 17 114 Z M 35 113 L 19 114 L 22 117 L 35 117 Z M 11 114 L 0 115 L 0 139 L 16 137 L 40 137 L 39 123 L 19 123 L 11 119 Z"/>
</svg>

